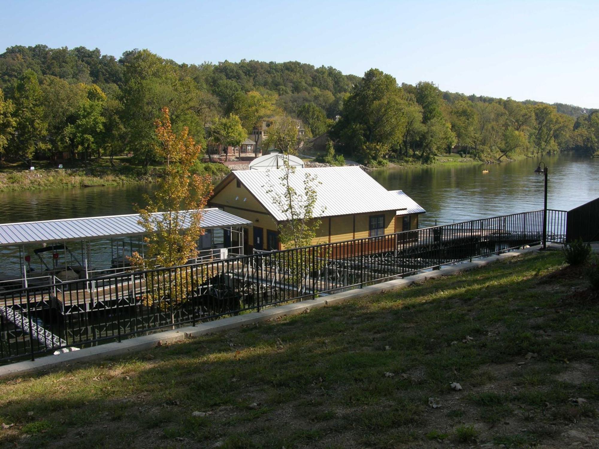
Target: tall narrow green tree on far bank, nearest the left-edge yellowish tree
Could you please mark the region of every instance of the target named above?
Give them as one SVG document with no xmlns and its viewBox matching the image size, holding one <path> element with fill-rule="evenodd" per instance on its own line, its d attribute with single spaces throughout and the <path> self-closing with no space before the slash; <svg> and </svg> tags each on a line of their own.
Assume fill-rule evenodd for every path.
<svg viewBox="0 0 599 449">
<path fill-rule="evenodd" d="M 46 139 L 48 123 L 44 120 L 42 91 L 34 71 L 26 70 L 13 84 L 11 94 L 16 123 L 8 150 L 11 156 L 31 164 L 36 153 L 45 153 L 50 148 Z"/>
</svg>

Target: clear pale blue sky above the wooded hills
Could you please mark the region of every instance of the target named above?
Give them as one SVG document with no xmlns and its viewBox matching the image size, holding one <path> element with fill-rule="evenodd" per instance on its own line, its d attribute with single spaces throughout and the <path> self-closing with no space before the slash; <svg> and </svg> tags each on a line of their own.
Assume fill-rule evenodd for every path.
<svg viewBox="0 0 599 449">
<path fill-rule="evenodd" d="M 599 1 L 7 1 L 0 48 L 298 60 L 443 90 L 599 108 Z"/>
</svg>

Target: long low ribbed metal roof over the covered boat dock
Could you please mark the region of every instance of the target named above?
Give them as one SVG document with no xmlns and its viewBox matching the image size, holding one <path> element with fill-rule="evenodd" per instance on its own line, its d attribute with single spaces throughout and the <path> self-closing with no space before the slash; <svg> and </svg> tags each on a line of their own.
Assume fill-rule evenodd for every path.
<svg viewBox="0 0 599 449">
<path fill-rule="evenodd" d="M 156 214 L 161 214 L 161 212 Z M 141 235 L 146 231 L 138 225 L 139 219 L 139 214 L 130 214 L 43 222 L 4 223 L 0 224 L 0 246 Z M 250 224 L 252 222 L 217 208 L 204 209 L 201 219 L 201 226 L 204 229 Z"/>
</svg>

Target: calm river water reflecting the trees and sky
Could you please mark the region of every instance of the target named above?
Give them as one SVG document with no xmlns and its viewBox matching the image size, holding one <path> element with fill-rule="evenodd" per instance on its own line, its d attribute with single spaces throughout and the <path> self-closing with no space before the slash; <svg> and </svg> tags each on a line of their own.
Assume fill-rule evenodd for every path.
<svg viewBox="0 0 599 449">
<path fill-rule="evenodd" d="M 543 159 L 549 166 L 549 208 L 568 210 L 599 196 L 599 159 L 570 154 Z M 404 190 L 426 209 L 420 219 L 422 227 L 542 208 L 543 177 L 534 174 L 537 163 L 537 159 L 525 159 L 495 165 L 380 169 L 371 175 L 389 190 Z M 489 173 L 483 174 L 483 169 Z M 0 223 L 128 214 L 132 204 L 143 204 L 143 194 L 152 188 L 0 193 Z M 0 250 L 0 274 L 19 271 L 18 254 Z"/>
</svg>

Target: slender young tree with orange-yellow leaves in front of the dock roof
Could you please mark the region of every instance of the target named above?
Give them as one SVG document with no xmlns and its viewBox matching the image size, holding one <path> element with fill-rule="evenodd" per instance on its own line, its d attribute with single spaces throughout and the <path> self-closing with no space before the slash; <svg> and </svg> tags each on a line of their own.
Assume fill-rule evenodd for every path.
<svg viewBox="0 0 599 449">
<path fill-rule="evenodd" d="M 138 223 L 146 230 L 146 254 L 142 257 L 134 253 L 131 258 L 132 266 L 137 269 L 170 268 L 197 257 L 198 239 L 204 233 L 202 211 L 212 192 L 209 176 L 190 173 L 200 154 L 200 145 L 189 136 L 187 128 L 179 134 L 173 131 L 166 107 L 162 109 L 162 119 L 155 122 L 155 132 L 158 144 L 154 150 L 165 163 L 164 177 L 154 198 L 146 195 L 146 207 L 137 207 Z M 174 311 L 189 295 L 190 275 L 185 269 L 172 278 L 150 272 L 146 278 L 147 304 L 170 310 L 174 324 Z"/>
</svg>

